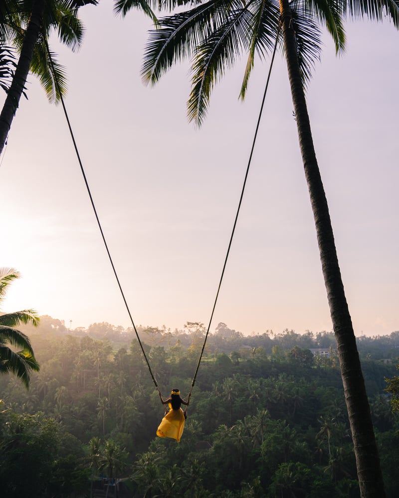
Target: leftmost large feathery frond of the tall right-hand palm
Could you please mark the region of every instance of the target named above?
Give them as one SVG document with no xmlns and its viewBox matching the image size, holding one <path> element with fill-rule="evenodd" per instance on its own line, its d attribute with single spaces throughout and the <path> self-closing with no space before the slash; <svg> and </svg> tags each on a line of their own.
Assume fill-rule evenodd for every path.
<svg viewBox="0 0 399 498">
<path fill-rule="evenodd" d="M 141 70 L 144 83 L 155 83 L 170 67 L 191 56 L 235 0 L 209 0 L 185 12 L 160 19 L 161 29 L 150 30 Z"/>
</svg>

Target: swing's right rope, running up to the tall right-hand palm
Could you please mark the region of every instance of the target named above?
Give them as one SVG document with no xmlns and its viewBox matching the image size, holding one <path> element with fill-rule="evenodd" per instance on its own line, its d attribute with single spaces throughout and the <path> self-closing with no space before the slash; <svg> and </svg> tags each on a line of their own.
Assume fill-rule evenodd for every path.
<svg viewBox="0 0 399 498">
<path fill-rule="evenodd" d="M 255 147 L 255 141 L 256 141 L 257 134 L 258 134 L 259 124 L 260 124 L 260 118 L 262 116 L 263 106 L 264 106 L 265 99 L 266 99 L 267 88 L 269 86 L 269 80 L 270 80 L 271 70 L 272 70 L 272 67 L 273 67 L 274 56 L 276 55 L 278 37 L 280 35 L 280 29 L 281 29 L 281 22 L 279 22 L 278 29 L 277 29 L 276 42 L 274 44 L 274 50 L 273 50 L 273 55 L 272 55 L 271 62 L 270 62 L 269 73 L 267 75 L 267 81 L 266 81 L 265 91 L 263 93 L 263 99 L 262 99 L 262 104 L 260 106 L 259 117 L 258 117 L 258 121 L 257 121 L 257 124 L 256 124 L 255 133 L 254 133 L 254 136 L 253 136 L 252 147 L 251 147 L 251 152 L 249 154 L 248 165 L 247 165 L 246 172 L 245 172 L 244 182 L 243 182 L 243 185 L 242 185 L 241 196 L 240 196 L 240 200 L 239 200 L 239 203 L 238 203 L 237 212 L 236 212 L 235 219 L 234 219 L 233 229 L 231 231 L 230 242 L 228 243 L 226 257 L 224 258 L 223 269 L 221 271 L 219 285 L 217 287 L 216 297 L 215 297 L 215 300 L 214 300 L 214 303 L 213 303 L 212 312 L 210 314 L 210 319 L 209 319 L 209 323 L 208 323 L 208 328 L 206 330 L 205 339 L 203 341 L 203 345 L 202 345 L 202 349 L 201 349 L 201 354 L 200 354 L 200 359 L 198 360 L 196 372 L 195 372 L 193 380 L 191 382 L 191 389 L 190 389 L 190 394 L 189 395 L 191 395 L 191 391 L 193 390 L 194 384 L 196 383 L 197 373 L 198 373 L 198 370 L 200 368 L 200 363 L 201 363 L 201 360 L 202 360 L 203 351 L 205 349 L 206 340 L 207 340 L 208 335 L 209 335 L 210 324 L 212 323 L 213 313 L 214 313 L 215 308 L 216 308 L 217 298 L 219 297 L 219 291 L 220 291 L 221 283 L 222 283 L 223 276 L 224 276 L 224 270 L 226 269 L 227 258 L 228 258 L 228 255 L 230 253 L 231 243 L 233 241 L 235 227 L 237 225 L 238 214 L 240 212 L 242 198 L 244 196 L 245 185 L 246 185 L 246 181 L 247 181 L 247 178 L 248 178 L 249 166 L 250 166 L 251 161 L 252 161 L 253 150 L 254 150 L 254 147 Z"/>
</svg>

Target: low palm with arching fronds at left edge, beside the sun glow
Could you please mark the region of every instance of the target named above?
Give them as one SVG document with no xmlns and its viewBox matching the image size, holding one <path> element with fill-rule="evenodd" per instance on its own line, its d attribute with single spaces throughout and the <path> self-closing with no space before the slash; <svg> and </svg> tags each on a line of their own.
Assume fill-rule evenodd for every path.
<svg viewBox="0 0 399 498">
<path fill-rule="evenodd" d="M 0 268 L 0 304 L 5 297 L 8 285 L 19 278 L 20 274 L 13 268 Z M 39 317 L 34 310 L 15 311 L 0 315 L 0 373 L 14 373 L 21 379 L 26 389 L 29 387 L 30 374 L 40 370 L 29 338 L 15 329 L 21 324 L 32 324 L 37 327 Z M 20 348 L 12 351 L 6 344 Z"/>
</svg>

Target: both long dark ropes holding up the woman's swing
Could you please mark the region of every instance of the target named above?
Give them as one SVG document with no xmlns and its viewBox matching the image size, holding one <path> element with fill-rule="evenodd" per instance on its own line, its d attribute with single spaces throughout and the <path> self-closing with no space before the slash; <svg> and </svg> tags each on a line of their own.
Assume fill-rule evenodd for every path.
<svg viewBox="0 0 399 498">
<path fill-rule="evenodd" d="M 237 211 L 236 211 L 236 214 L 235 214 L 233 228 L 232 228 L 232 231 L 231 231 L 231 235 L 230 235 L 230 240 L 229 240 L 229 243 L 228 243 L 228 248 L 227 248 L 226 256 L 224 258 L 224 263 L 223 263 L 223 268 L 222 268 L 221 275 L 220 275 L 219 285 L 217 287 L 216 296 L 215 296 L 215 299 L 214 299 L 214 302 L 213 302 L 213 307 L 212 307 L 212 311 L 211 311 L 211 314 L 210 314 L 210 318 L 209 318 L 209 322 L 208 322 L 208 327 L 207 327 L 207 330 L 206 330 L 205 338 L 204 338 L 204 341 L 203 341 L 203 345 L 202 345 L 202 349 L 201 349 L 201 353 L 200 353 L 200 358 L 198 360 L 197 368 L 196 368 L 196 371 L 194 373 L 193 380 L 192 380 L 192 383 L 191 383 L 191 389 L 190 389 L 190 392 L 189 392 L 189 397 L 191 396 L 191 392 L 192 392 L 192 390 L 194 388 L 194 385 L 196 383 L 197 374 L 198 374 L 198 371 L 200 369 L 200 363 L 201 363 L 201 360 L 202 360 L 202 355 L 203 355 L 203 352 L 205 350 L 205 345 L 206 345 L 206 341 L 207 341 L 207 338 L 208 338 L 208 335 L 209 335 L 210 325 L 212 323 L 213 314 L 214 314 L 214 311 L 215 311 L 215 308 L 216 308 L 217 299 L 219 297 L 219 292 L 220 292 L 221 284 L 222 284 L 222 281 L 223 281 L 224 271 L 225 271 L 226 265 L 227 265 L 227 259 L 228 259 L 229 253 L 230 253 L 231 244 L 232 244 L 232 240 L 233 240 L 234 233 L 235 233 L 235 228 L 236 228 L 236 225 L 237 225 L 238 215 L 239 215 L 239 212 L 240 212 L 240 209 L 241 209 L 242 199 L 243 199 L 243 196 L 244 196 L 246 181 L 247 181 L 248 173 L 249 173 L 249 167 L 250 167 L 250 164 L 251 164 L 251 161 L 252 161 L 252 155 L 253 155 L 253 151 L 254 151 L 254 147 L 255 147 L 256 137 L 257 137 L 258 130 L 259 130 L 260 119 L 261 119 L 261 116 L 262 116 L 262 111 L 263 111 L 263 107 L 264 107 L 264 103 L 265 103 L 265 99 L 266 99 L 266 93 L 267 93 L 267 89 L 268 89 L 268 86 L 269 86 L 271 70 L 272 70 L 272 67 L 273 67 L 274 57 L 275 57 L 276 50 L 277 50 L 277 43 L 278 43 L 278 38 L 279 38 L 279 34 L 280 34 L 280 29 L 281 29 L 281 22 L 279 22 L 278 29 L 277 29 L 276 42 L 275 42 L 275 45 L 274 45 L 273 55 L 272 55 L 271 62 L 270 62 L 270 67 L 269 67 L 269 72 L 268 72 L 268 75 L 267 75 L 266 86 L 265 86 L 265 90 L 264 90 L 264 93 L 263 93 L 263 99 L 262 99 L 262 103 L 261 103 L 261 106 L 260 106 L 260 111 L 259 111 L 259 116 L 258 116 L 257 124 L 256 124 L 256 127 L 255 127 L 255 133 L 254 133 L 254 137 L 253 137 L 253 140 L 252 140 L 252 147 L 251 147 L 251 151 L 250 151 L 250 154 L 249 154 L 248 164 L 247 164 L 247 168 L 246 168 L 246 172 L 245 172 L 245 177 L 244 177 L 244 181 L 243 181 L 243 185 L 242 185 L 242 189 L 241 189 L 241 195 L 240 195 L 240 199 L 239 199 L 239 202 L 238 202 Z M 74 133 L 73 133 L 73 130 L 72 130 L 72 126 L 70 124 L 68 113 L 66 111 L 64 99 L 62 97 L 62 93 L 61 93 L 60 85 L 58 83 L 57 75 L 55 73 L 54 64 L 53 64 L 53 61 L 52 61 L 52 58 L 51 58 L 51 54 L 50 54 L 50 50 L 49 50 L 49 47 L 48 47 L 48 43 L 47 43 L 47 40 L 45 39 L 45 37 L 43 39 L 44 39 L 44 42 L 45 42 L 45 45 L 46 45 L 47 55 L 48 55 L 48 58 L 49 58 L 49 61 L 50 61 L 50 65 L 51 65 L 51 68 L 52 68 L 52 72 L 53 72 L 53 76 L 54 76 L 54 83 L 55 83 L 55 86 L 56 86 L 56 88 L 58 90 L 58 93 L 59 93 L 59 96 L 60 96 L 60 101 L 61 101 L 62 109 L 63 109 L 64 115 L 65 115 L 66 122 L 68 124 L 69 133 L 70 133 L 71 138 L 72 138 L 72 142 L 73 142 L 73 146 L 74 146 L 74 149 L 75 149 L 76 157 L 77 157 L 78 162 L 79 162 L 80 170 L 82 172 L 83 180 L 84 180 L 84 183 L 86 185 L 86 190 L 87 190 L 87 193 L 89 195 L 89 199 L 90 199 L 91 206 L 93 208 L 94 216 L 96 218 L 97 225 L 98 225 L 98 228 L 100 230 L 101 238 L 103 240 L 105 249 L 107 251 L 108 259 L 109 259 L 109 261 L 111 263 L 111 267 L 112 267 L 112 270 L 114 272 L 114 275 L 115 275 L 115 278 L 116 278 L 116 281 L 117 281 L 117 284 L 118 284 L 119 291 L 121 293 L 123 302 L 125 303 L 125 307 L 126 307 L 126 310 L 128 312 L 129 318 L 130 318 L 130 322 L 131 322 L 131 324 L 133 326 L 133 330 L 135 331 L 138 343 L 139 343 L 141 351 L 143 353 L 144 360 L 145 360 L 145 362 L 147 364 L 147 367 L 148 367 L 148 370 L 150 372 L 151 378 L 153 379 L 154 385 L 155 385 L 157 391 L 161 394 L 161 391 L 160 391 L 160 389 L 158 387 L 158 382 L 157 382 L 157 380 L 156 380 L 156 378 L 154 376 L 154 373 L 151 370 L 150 362 L 148 361 L 147 355 L 146 355 L 146 353 L 144 351 L 143 344 L 142 344 L 142 342 L 140 340 L 140 336 L 139 336 L 139 334 L 137 332 L 137 328 L 136 328 L 136 325 L 134 323 L 133 316 L 132 316 L 132 314 L 130 312 L 130 308 L 129 308 L 129 305 L 128 305 L 127 300 L 126 300 L 125 293 L 123 292 L 123 288 L 122 288 L 121 282 L 120 282 L 119 277 L 118 277 L 118 273 L 116 271 L 116 268 L 115 268 L 115 265 L 114 265 L 114 262 L 113 262 L 113 259 L 112 259 L 112 256 L 111 256 L 111 252 L 110 252 L 110 250 L 108 248 L 108 244 L 107 244 L 107 241 L 105 239 L 105 235 L 104 235 L 101 223 L 100 223 L 100 219 L 99 219 L 98 214 L 97 214 L 97 209 L 95 207 L 94 200 L 93 200 L 93 197 L 92 197 L 92 194 L 91 194 L 91 190 L 90 190 L 90 187 L 89 187 L 89 184 L 88 184 L 88 181 L 87 181 L 86 173 L 85 173 L 84 168 L 83 168 L 83 163 L 82 163 L 81 158 L 80 158 L 80 154 L 79 154 L 79 150 L 78 150 L 78 147 L 77 147 L 77 144 L 76 144 L 76 140 L 75 140 L 75 136 L 74 136 Z"/>
</svg>

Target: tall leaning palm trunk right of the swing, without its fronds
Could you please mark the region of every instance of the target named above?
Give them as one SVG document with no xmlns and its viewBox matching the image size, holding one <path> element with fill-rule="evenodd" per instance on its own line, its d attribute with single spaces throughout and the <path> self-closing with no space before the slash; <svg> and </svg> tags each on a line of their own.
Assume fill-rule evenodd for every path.
<svg viewBox="0 0 399 498">
<path fill-rule="evenodd" d="M 385 497 L 384 483 L 371 420 L 370 406 L 338 264 L 327 199 L 314 150 L 288 0 L 280 0 L 280 12 L 299 144 L 315 219 L 330 314 L 337 341 L 338 357 L 355 449 L 361 496 L 362 498 L 383 498 Z"/>
</svg>

